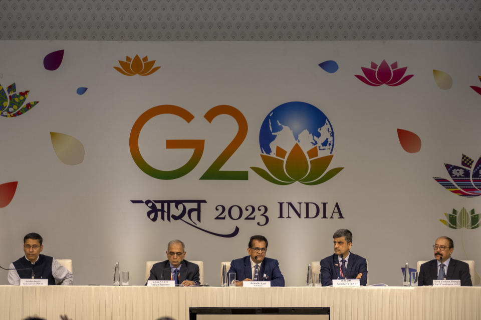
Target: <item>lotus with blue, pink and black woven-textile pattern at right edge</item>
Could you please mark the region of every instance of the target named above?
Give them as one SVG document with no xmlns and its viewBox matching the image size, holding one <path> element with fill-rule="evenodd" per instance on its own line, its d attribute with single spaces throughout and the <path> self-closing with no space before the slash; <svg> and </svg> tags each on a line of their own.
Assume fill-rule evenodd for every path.
<svg viewBox="0 0 481 320">
<path fill-rule="evenodd" d="M 472 166 L 473 162 L 473 159 L 463 154 L 461 166 L 444 163 L 455 185 L 441 177 L 435 176 L 434 179 L 454 194 L 466 197 L 481 195 L 481 157 L 474 166 Z"/>
</svg>

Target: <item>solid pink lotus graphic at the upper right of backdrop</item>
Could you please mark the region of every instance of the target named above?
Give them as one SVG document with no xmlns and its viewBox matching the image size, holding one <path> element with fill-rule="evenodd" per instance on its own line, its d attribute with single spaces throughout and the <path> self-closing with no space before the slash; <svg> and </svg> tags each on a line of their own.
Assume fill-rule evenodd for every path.
<svg viewBox="0 0 481 320">
<path fill-rule="evenodd" d="M 365 77 L 359 74 L 355 74 L 355 77 L 372 86 L 379 86 L 382 84 L 397 86 L 403 84 L 414 76 L 414 74 L 409 74 L 402 77 L 406 72 L 407 66 L 398 68 L 397 61 L 391 65 L 387 64 L 386 60 L 382 60 L 379 65 L 371 61 L 370 68 L 361 67 L 361 69 L 362 72 L 364 72 Z"/>
</svg>

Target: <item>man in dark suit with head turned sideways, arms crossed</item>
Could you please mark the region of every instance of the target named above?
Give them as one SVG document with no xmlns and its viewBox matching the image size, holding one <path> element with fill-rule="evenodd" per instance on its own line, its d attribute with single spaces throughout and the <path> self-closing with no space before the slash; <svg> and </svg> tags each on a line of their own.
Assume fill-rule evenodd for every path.
<svg viewBox="0 0 481 320">
<path fill-rule="evenodd" d="M 367 262 L 360 255 L 351 253 L 352 233 L 348 229 L 334 232 L 334 254 L 321 260 L 321 284 L 332 285 L 333 279 L 360 279 L 367 283 Z"/>
</svg>

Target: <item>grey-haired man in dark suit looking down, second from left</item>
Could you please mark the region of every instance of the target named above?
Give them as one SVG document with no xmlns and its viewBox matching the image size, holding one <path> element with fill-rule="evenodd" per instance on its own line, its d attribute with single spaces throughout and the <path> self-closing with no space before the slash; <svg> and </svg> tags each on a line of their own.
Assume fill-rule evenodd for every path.
<svg viewBox="0 0 481 320">
<path fill-rule="evenodd" d="M 199 266 L 184 260 L 187 253 L 184 242 L 170 241 L 165 253 L 168 260 L 155 263 L 148 280 L 174 280 L 175 284 L 184 286 L 200 284 Z"/>
</svg>

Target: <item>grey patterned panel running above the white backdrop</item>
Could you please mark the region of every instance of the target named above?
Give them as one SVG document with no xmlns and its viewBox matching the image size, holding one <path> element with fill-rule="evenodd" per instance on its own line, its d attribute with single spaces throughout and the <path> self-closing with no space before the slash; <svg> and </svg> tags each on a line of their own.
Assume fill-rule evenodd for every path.
<svg viewBox="0 0 481 320">
<path fill-rule="evenodd" d="M 0 0 L 2 40 L 479 40 L 481 0 Z"/>
</svg>

